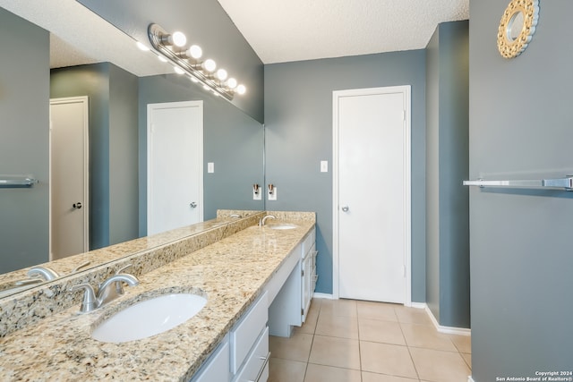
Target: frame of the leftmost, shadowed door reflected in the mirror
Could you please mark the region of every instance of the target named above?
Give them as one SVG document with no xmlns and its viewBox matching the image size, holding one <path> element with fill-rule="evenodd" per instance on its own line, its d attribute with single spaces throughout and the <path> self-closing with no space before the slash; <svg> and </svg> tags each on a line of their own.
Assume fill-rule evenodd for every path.
<svg viewBox="0 0 573 382">
<path fill-rule="evenodd" d="M 50 115 L 49 115 L 49 139 L 48 139 L 48 168 L 49 168 L 49 187 L 48 187 L 48 215 L 49 215 L 49 259 L 53 258 L 52 254 L 52 105 L 81 103 L 83 105 L 83 251 L 90 250 L 90 100 L 88 96 L 50 98 Z"/>
</svg>

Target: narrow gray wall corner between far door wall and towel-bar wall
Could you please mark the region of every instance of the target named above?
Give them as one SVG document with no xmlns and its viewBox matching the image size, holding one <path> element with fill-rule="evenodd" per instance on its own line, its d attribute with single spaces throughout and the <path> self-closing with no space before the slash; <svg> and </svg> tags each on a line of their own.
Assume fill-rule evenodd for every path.
<svg viewBox="0 0 573 382">
<path fill-rule="evenodd" d="M 468 21 L 441 23 L 426 48 L 426 303 L 470 327 Z"/>
</svg>

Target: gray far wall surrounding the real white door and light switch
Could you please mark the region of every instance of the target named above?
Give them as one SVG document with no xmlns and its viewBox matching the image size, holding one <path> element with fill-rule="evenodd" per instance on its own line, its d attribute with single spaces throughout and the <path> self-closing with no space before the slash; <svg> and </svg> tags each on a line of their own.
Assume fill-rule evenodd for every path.
<svg viewBox="0 0 573 382">
<path fill-rule="evenodd" d="M 412 86 L 412 299 L 425 301 L 425 53 L 360 55 L 265 66 L 269 210 L 317 213 L 316 291 L 332 293 L 332 91 Z M 329 173 L 320 161 L 329 161 Z"/>
</svg>

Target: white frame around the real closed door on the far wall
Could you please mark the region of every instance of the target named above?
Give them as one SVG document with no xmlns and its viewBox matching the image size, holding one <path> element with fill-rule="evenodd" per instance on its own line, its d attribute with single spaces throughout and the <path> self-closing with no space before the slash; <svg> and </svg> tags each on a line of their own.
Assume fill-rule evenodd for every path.
<svg viewBox="0 0 573 382">
<path fill-rule="evenodd" d="M 372 96 L 377 94 L 392 94 L 392 93 L 402 93 L 404 97 L 404 105 L 406 110 L 404 110 L 404 190 L 405 195 L 405 208 L 404 208 L 404 222 L 405 222 L 405 237 L 404 237 L 404 249 L 405 249 L 405 265 L 406 265 L 406 297 L 404 305 L 412 305 L 412 189 L 411 189 L 411 179 L 412 170 L 410 166 L 411 162 L 411 89 L 410 85 L 404 86 L 389 86 L 382 88 L 367 88 L 367 89 L 346 89 L 346 90 L 336 90 L 332 92 L 332 297 L 334 299 L 339 298 L 339 195 L 338 195 L 338 100 L 345 97 L 356 97 L 356 96 Z"/>
</svg>

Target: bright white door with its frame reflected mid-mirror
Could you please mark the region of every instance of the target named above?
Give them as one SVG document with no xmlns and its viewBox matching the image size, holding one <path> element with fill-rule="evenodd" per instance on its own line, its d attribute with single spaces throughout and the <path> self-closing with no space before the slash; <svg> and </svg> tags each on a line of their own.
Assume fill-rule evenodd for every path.
<svg viewBox="0 0 573 382">
<path fill-rule="evenodd" d="M 148 234 L 203 220 L 203 103 L 148 105 Z"/>
</svg>

